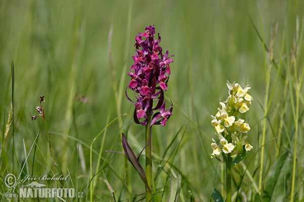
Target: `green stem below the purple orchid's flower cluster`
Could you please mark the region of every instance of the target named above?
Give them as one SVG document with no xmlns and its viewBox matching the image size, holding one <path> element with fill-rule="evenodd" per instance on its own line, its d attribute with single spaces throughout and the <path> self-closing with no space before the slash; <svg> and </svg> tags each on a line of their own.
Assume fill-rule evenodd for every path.
<svg viewBox="0 0 304 202">
<path fill-rule="evenodd" d="M 146 201 L 150 201 L 152 198 L 152 191 L 151 191 L 151 177 L 152 177 L 152 159 L 151 159 L 151 116 L 149 116 L 150 111 L 147 110 L 148 114 L 148 123 L 146 125 L 146 132 L 145 132 L 145 153 L 146 153 L 146 167 L 145 173 L 148 181 L 149 187 L 145 187 L 146 191 Z"/>
</svg>

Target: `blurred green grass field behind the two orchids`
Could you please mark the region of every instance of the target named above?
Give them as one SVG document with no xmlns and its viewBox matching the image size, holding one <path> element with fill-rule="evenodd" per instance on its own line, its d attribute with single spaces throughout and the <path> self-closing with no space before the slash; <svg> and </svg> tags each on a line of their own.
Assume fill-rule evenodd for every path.
<svg viewBox="0 0 304 202">
<path fill-rule="evenodd" d="M 1 1 L 0 200 L 37 181 L 83 192 L 65 201 L 145 201 L 121 133 L 135 155 L 145 146 L 125 89 L 135 36 L 155 25 L 163 52 L 175 56 L 165 92 L 173 115 L 152 129 L 154 200 L 168 201 L 178 173 L 179 201 L 214 201 L 213 187 L 225 198 L 225 166 L 209 155 L 216 137 L 210 115 L 226 99 L 229 80 L 249 84 L 253 97 L 245 117 L 253 148 L 233 168 L 233 201 L 304 201 L 303 8 L 299 0 Z M 31 121 L 40 95 L 46 122 Z M 13 191 L 9 173 L 37 179 Z M 68 177 L 38 179 L 55 173 Z"/>
</svg>

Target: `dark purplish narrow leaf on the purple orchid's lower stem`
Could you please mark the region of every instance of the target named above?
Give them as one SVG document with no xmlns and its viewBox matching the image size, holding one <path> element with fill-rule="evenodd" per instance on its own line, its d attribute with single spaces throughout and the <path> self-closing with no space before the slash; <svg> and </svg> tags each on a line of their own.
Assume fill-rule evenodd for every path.
<svg viewBox="0 0 304 202">
<path fill-rule="evenodd" d="M 132 164 L 132 166 L 135 168 L 135 170 L 138 172 L 141 180 L 146 185 L 146 187 L 150 188 L 143 168 L 139 164 L 138 159 L 136 158 L 135 154 L 133 153 L 133 150 L 131 149 L 131 147 L 129 146 L 129 144 L 127 142 L 127 139 L 126 139 L 126 136 L 124 135 L 124 133 L 122 133 L 122 134 L 123 134 L 123 139 L 122 139 L 123 140 L 123 147 L 124 147 L 127 159 Z"/>
</svg>

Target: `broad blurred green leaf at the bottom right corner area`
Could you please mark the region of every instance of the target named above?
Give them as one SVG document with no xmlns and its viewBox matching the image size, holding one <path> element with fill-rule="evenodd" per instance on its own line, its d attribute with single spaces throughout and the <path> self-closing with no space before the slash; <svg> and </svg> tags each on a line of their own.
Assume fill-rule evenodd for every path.
<svg viewBox="0 0 304 202">
<path fill-rule="evenodd" d="M 265 182 L 263 201 L 283 201 L 285 183 L 291 173 L 292 158 L 286 152 L 272 166 Z"/>
</svg>

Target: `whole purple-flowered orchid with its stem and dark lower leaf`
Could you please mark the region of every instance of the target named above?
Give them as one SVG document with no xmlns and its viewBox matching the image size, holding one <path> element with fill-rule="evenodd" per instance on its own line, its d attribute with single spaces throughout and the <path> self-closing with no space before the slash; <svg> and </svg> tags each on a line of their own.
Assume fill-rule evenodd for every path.
<svg viewBox="0 0 304 202">
<path fill-rule="evenodd" d="M 136 102 L 133 102 L 126 88 L 127 99 L 135 105 L 133 119 L 135 123 L 146 126 L 145 134 L 145 171 L 135 157 L 131 147 L 129 146 L 125 135 L 122 136 L 123 148 L 127 159 L 138 172 L 140 178 L 145 184 L 146 201 L 150 201 L 152 197 L 151 185 L 152 177 L 152 159 L 151 159 L 151 127 L 153 125 L 165 126 L 170 116 L 172 116 L 173 104 L 166 109 L 164 102 L 164 91 L 168 89 L 169 76 L 171 70 L 169 67 L 173 60 L 166 51 L 162 54 L 162 47 L 159 46 L 161 36 L 154 38 L 155 27 L 148 26 L 143 33 L 139 33 L 135 37 L 136 55 L 133 56 L 134 64 L 131 66 L 129 76 L 130 83 L 127 88 L 132 89 L 136 94 Z M 159 110 L 159 112 L 157 112 Z"/>
</svg>

